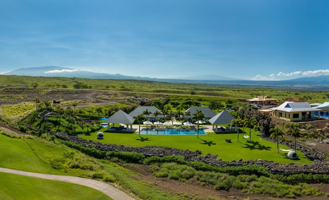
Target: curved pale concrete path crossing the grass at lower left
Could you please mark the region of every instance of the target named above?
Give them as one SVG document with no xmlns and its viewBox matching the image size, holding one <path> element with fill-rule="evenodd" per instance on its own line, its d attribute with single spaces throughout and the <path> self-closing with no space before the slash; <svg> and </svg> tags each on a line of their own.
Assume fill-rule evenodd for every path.
<svg viewBox="0 0 329 200">
<path fill-rule="evenodd" d="M 53 181 L 61 181 L 66 183 L 78 184 L 82 186 L 87 186 L 89 188 L 96 189 L 100 192 L 103 192 L 107 196 L 113 198 L 114 200 L 134 200 L 133 197 L 127 195 L 126 193 L 122 192 L 121 190 L 108 185 L 106 183 L 96 181 L 94 179 L 88 178 L 81 178 L 76 176 L 63 176 L 63 175 L 52 175 L 52 174 L 42 174 L 42 173 L 34 173 L 34 172 L 27 172 L 27 171 L 20 171 L 15 169 L 8 169 L 0 167 L 0 172 L 4 173 L 11 173 L 23 176 L 30 176 L 35 178 L 43 178 L 49 179 Z"/>
</svg>

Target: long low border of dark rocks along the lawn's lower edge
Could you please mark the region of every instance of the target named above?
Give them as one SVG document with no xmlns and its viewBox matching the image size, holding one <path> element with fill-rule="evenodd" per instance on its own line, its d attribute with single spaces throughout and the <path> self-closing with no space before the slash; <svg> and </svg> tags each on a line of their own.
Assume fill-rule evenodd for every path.
<svg viewBox="0 0 329 200">
<path fill-rule="evenodd" d="M 26 126 L 27 128 L 33 127 Z M 197 150 L 195 152 L 190 150 L 180 150 L 171 147 L 160 147 L 160 146 L 145 146 L 145 147 L 126 147 L 123 145 L 115 145 L 115 144 L 103 144 L 100 142 L 94 142 L 91 139 L 87 141 L 81 137 L 76 135 L 69 135 L 65 132 L 48 133 L 55 135 L 61 139 L 65 139 L 67 141 L 74 142 L 76 144 L 85 146 L 85 147 L 94 147 L 99 150 L 105 151 L 118 151 L 118 152 L 136 152 L 142 153 L 145 156 L 166 156 L 166 155 L 180 155 L 184 156 L 187 161 L 196 161 L 203 162 L 212 166 L 220 166 L 220 167 L 229 167 L 229 166 L 246 166 L 246 165 L 262 165 L 266 167 L 270 173 L 278 173 L 278 174 L 293 174 L 293 173 L 329 173 L 329 166 L 327 162 L 323 161 L 323 156 L 318 155 L 316 153 L 312 153 L 309 150 L 298 148 L 299 151 L 305 153 L 308 158 L 315 158 L 312 165 L 302 165 L 298 166 L 294 163 L 290 164 L 279 164 L 272 161 L 264 161 L 262 159 L 258 160 L 249 160 L 243 161 L 239 159 L 237 161 L 222 161 L 222 159 L 217 159 L 217 155 L 200 155 L 202 152 Z M 291 146 L 290 144 L 284 144 L 286 146 Z"/>
</svg>

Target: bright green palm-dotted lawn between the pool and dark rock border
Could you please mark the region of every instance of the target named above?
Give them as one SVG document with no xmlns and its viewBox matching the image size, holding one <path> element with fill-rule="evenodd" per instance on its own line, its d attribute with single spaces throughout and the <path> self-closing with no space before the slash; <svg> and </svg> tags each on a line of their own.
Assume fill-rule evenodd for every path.
<svg viewBox="0 0 329 200">
<path fill-rule="evenodd" d="M 218 155 L 223 161 L 232 161 L 242 158 L 244 161 L 249 159 L 264 159 L 278 163 L 296 163 L 298 165 L 311 164 L 312 161 L 304 158 L 304 154 L 297 152 L 298 158 L 291 160 L 287 157 L 286 152 L 277 151 L 277 144 L 265 141 L 259 135 L 259 132 L 251 131 L 251 143 L 249 139 L 243 137 L 242 129 L 239 131 L 239 142 L 237 142 L 237 133 L 220 133 L 214 132 L 207 135 L 138 135 L 128 133 L 106 132 L 107 128 L 103 128 L 103 139 L 97 139 L 96 133 L 90 135 L 79 135 L 85 139 L 93 139 L 94 141 L 104 144 L 111 143 L 117 145 L 142 147 L 142 146 L 167 146 L 182 150 L 201 150 L 203 155 L 210 153 Z M 249 129 L 245 132 L 249 135 Z M 226 138 L 231 139 L 231 143 L 225 141 Z M 283 145 L 280 148 L 287 149 Z"/>
</svg>

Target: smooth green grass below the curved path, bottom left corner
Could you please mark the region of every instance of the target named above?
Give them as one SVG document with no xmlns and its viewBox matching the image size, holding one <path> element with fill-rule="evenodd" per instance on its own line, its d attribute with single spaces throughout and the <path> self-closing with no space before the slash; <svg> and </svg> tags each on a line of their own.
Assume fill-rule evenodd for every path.
<svg viewBox="0 0 329 200">
<path fill-rule="evenodd" d="M 112 199 L 76 184 L 0 173 L 1 199 Z"/>
</svg>

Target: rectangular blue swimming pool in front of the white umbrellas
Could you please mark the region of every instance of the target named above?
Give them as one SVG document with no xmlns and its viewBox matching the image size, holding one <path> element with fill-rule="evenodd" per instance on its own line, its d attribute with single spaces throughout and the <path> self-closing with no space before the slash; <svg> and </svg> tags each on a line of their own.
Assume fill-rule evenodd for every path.
<svg viewBox="0 0 329 200">
<path fill-rule="evenodd" d="M 142 129 L 140 131 L 140 134 L 141 135 L 197 135 L 197 130 L 189 130 L 189 129 L 149 130 L 149 129 Z M 199 130 L 199 135 L 206 135 L 206 132 L 204 130 Z"/>
</svg>

